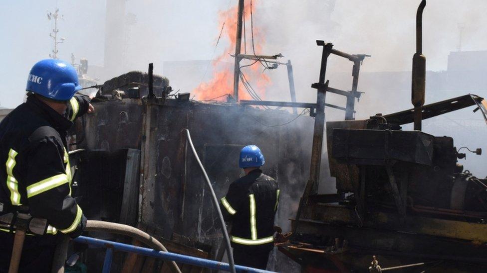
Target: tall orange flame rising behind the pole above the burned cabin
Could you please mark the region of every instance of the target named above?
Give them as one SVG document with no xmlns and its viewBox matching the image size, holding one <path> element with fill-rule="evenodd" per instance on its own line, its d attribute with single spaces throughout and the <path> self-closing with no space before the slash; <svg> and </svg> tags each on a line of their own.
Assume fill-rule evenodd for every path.
<svg viewBox="0 0 487 273">
<path fill-rule="evenodd" d="M 246 1 L 244 5 L 244 16 L 243 20 L 247 21 L 245 25 L 245 30 L 247 34 L 250 33 L 250 8 L 252 8 L 252 12 L 255 11 L 255 2 L 257 0 L 252 0 L 252 6 L 250 7 L 250 1 Z M 229 8 L 225 11 L 219 12 L 219 21 L 220 26 L 225 23 L 225 28 L 222 33 L 222 38 L 226 37 L 230 41 L 230 45 L 225 49 L 224 53 L 218 56 L 213 61 L 213 68 L 214 73 L 213 77 L 210 81 L 206 83 L 201 83 L 196 89 L 192 91 L 196 98 L 199 100 L 225 100 L 227 94 L 233 96 L 233 89 L 234 89 L 234 58 L 230 55 L 235 54 L 235 45 L 237 39 L 237 20 L 238 17 L 238 6 L 234 6 Z M 244 35 L 244 34 L 243 34 Z M 255 53 L 260 52 L 262 46 L 264 44 L 262 35 L 260 35 L 260 31 L 258 28 L 253 26 L 253 36 L 254 36 L 254 45 L 255 45 Z M 246 35 L 247 46 L 246 49 L 248 50 L 247 54 L 252 54 L 252 46 L 251 46 L 251 37 L 250 35 Z M 258 42 L 257 42 L 258 41 Z M 242 38 L 242 47 L 241 52 L 244 52 L 244 41 Z M 251 53 L 250 53 L 251 52 Z M 248 62 L 248 61 L 246 61 Z M 241 61 L 241 66 L 246 65 L 245 61 Z M 253 61 L 252 61 L 253 62 Z M 249 63 L 250 64 L 250 63 Z M 258 63 L 255 63 L 252 66 L 246 67 L 242 69 L 242 72 L 245 75 L 245 78 L 249 81 L 252 85 L 253 90 L 263 98 L 263 94 L 265 92 L 265 88 L 270 84 L 270 78 L 261 73 L 262 67 L 259 66 Z M 239 99 L 253 99 L 252 96 L 248 92 L 245 91 L 244 85 L 242 81 L 239 82 Z"/>
</svg>

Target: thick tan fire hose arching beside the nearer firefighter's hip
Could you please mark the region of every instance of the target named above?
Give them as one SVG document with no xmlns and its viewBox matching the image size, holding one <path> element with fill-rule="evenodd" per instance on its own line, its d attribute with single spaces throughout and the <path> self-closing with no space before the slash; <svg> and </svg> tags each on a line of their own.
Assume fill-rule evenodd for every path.
<svg viewBox="0 0 487 273">
<path fill-rule="evenodd" d="M 154 237 L 151 235 L 143 232 L 142 230 L 138 228 L 134 228 L 128 225 L 124 224 L 118 224 L 118 223 L 111 223 L 111 222 L 105 222 L 105 221 L 97 221 L 97 220 L 88 220 L 86 222 L 86 227 L 84 229 L 85 231 L 103 231 L 103 232 L 109 232 L 113 234 L 119 234 L 119 235 L 125 235 L 129 236 L 145 245 L 147 245 L 150 248 L 153 248 L 155 250 L 163 251 L 163 252 L 168 252 L 167 249 L 164 247 L 163 244 L 161 244 L 158 240 L 156 240 Z M 54 257 L 54 265 L 59 265 L 60 262 L 62 262 L 63 268 L 60 270 L 59 266 L 53 267 L 53 272 L 56 273 L 62 273 L 64 272 L 64 261 L 66 260 L 66 253 L 61 253 L 62 251 L 67 251 L 67 245 L 68 241 L 63 241 L 63 244 L 60 244 L 56 248 L 56 254 L 57 256 Z M 62 250 L 62 251 L 59 251 Z M 62 261 L 56 261 L 56 260 L 61 260 Z M 181 270 L 179 269 L 178 265 L 174 261 L 169 262 L 168 264 L 169 268 L 173 273 L 181 273 Z"/>
</svg>

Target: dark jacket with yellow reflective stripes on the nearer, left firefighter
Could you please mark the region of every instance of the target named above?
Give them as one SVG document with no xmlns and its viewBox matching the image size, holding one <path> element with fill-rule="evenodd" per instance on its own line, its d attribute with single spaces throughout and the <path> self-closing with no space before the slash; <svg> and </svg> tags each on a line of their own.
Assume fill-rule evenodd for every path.
<svg viewBox="0 0 487 273">
<path fill-rule="evenodd" d="M 86 218 L 71 197 L 66 134 L 89 99 L 76 95 L 67 104 L 61 116 L 29 95 L 1 121 L 0 215 L 26 206 L 32 217 L 47 219 L 46 234 L 77 236 Z"/>
</svg>

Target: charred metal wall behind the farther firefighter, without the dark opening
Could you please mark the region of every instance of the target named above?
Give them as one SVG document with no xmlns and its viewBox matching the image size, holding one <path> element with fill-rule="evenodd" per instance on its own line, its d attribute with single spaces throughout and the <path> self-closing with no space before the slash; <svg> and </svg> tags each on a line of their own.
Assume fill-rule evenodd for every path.
<svg viewBox="0 0 487 273">
<path fill-rule="evenodd" d="M 141 150 L 138 216 L 165 238 L 180 234 L 212 245 L 215 251 L 222 237 L 209 189 L 186 149 L 183 128 L 191 132 L 217 197 L 243 175 L 238 167 L 240 149 L 259 146 L 266 159 L 264 173 L 281 188 L 277 224 L 290 229 L 289 218 L 294 217 L 308 179 L 313 130 L 309 116 L 295 119 L 281 110 L 177 100 L 107 100 L 94 106 L 96 112 L 78 126 L 78 148 Z"/>
</svg>

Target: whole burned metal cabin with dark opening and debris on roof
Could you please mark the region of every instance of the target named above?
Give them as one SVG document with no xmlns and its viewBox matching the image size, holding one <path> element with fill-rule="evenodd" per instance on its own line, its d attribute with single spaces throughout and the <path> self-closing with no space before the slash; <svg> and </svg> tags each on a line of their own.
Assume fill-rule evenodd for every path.
<svg viewBox="0 0 487 273">
<path fill-rule="evenodd" d="M 219 197 L 242 175 L 241 148 L 262 149 L 263 170 L 280 183 L 286 200 L 277 215 L 286 228 L 304 186 L 312 118 L 203 103 L 189 94 L 168 97 L 168 80 L 148 81 L 149 76 L 131 72 L 107 81 L 94 99 L 95 114 L 76 124 L 73 144 L 86 150 L 79 153 L 75 194 L 86 216 L 139 223 L 155 236 L 203 250 L 207 258 L 216 255 L 222 233 L 209 189 L 188 152 L 182 132 L 187 128 Z"/>
</svg>

